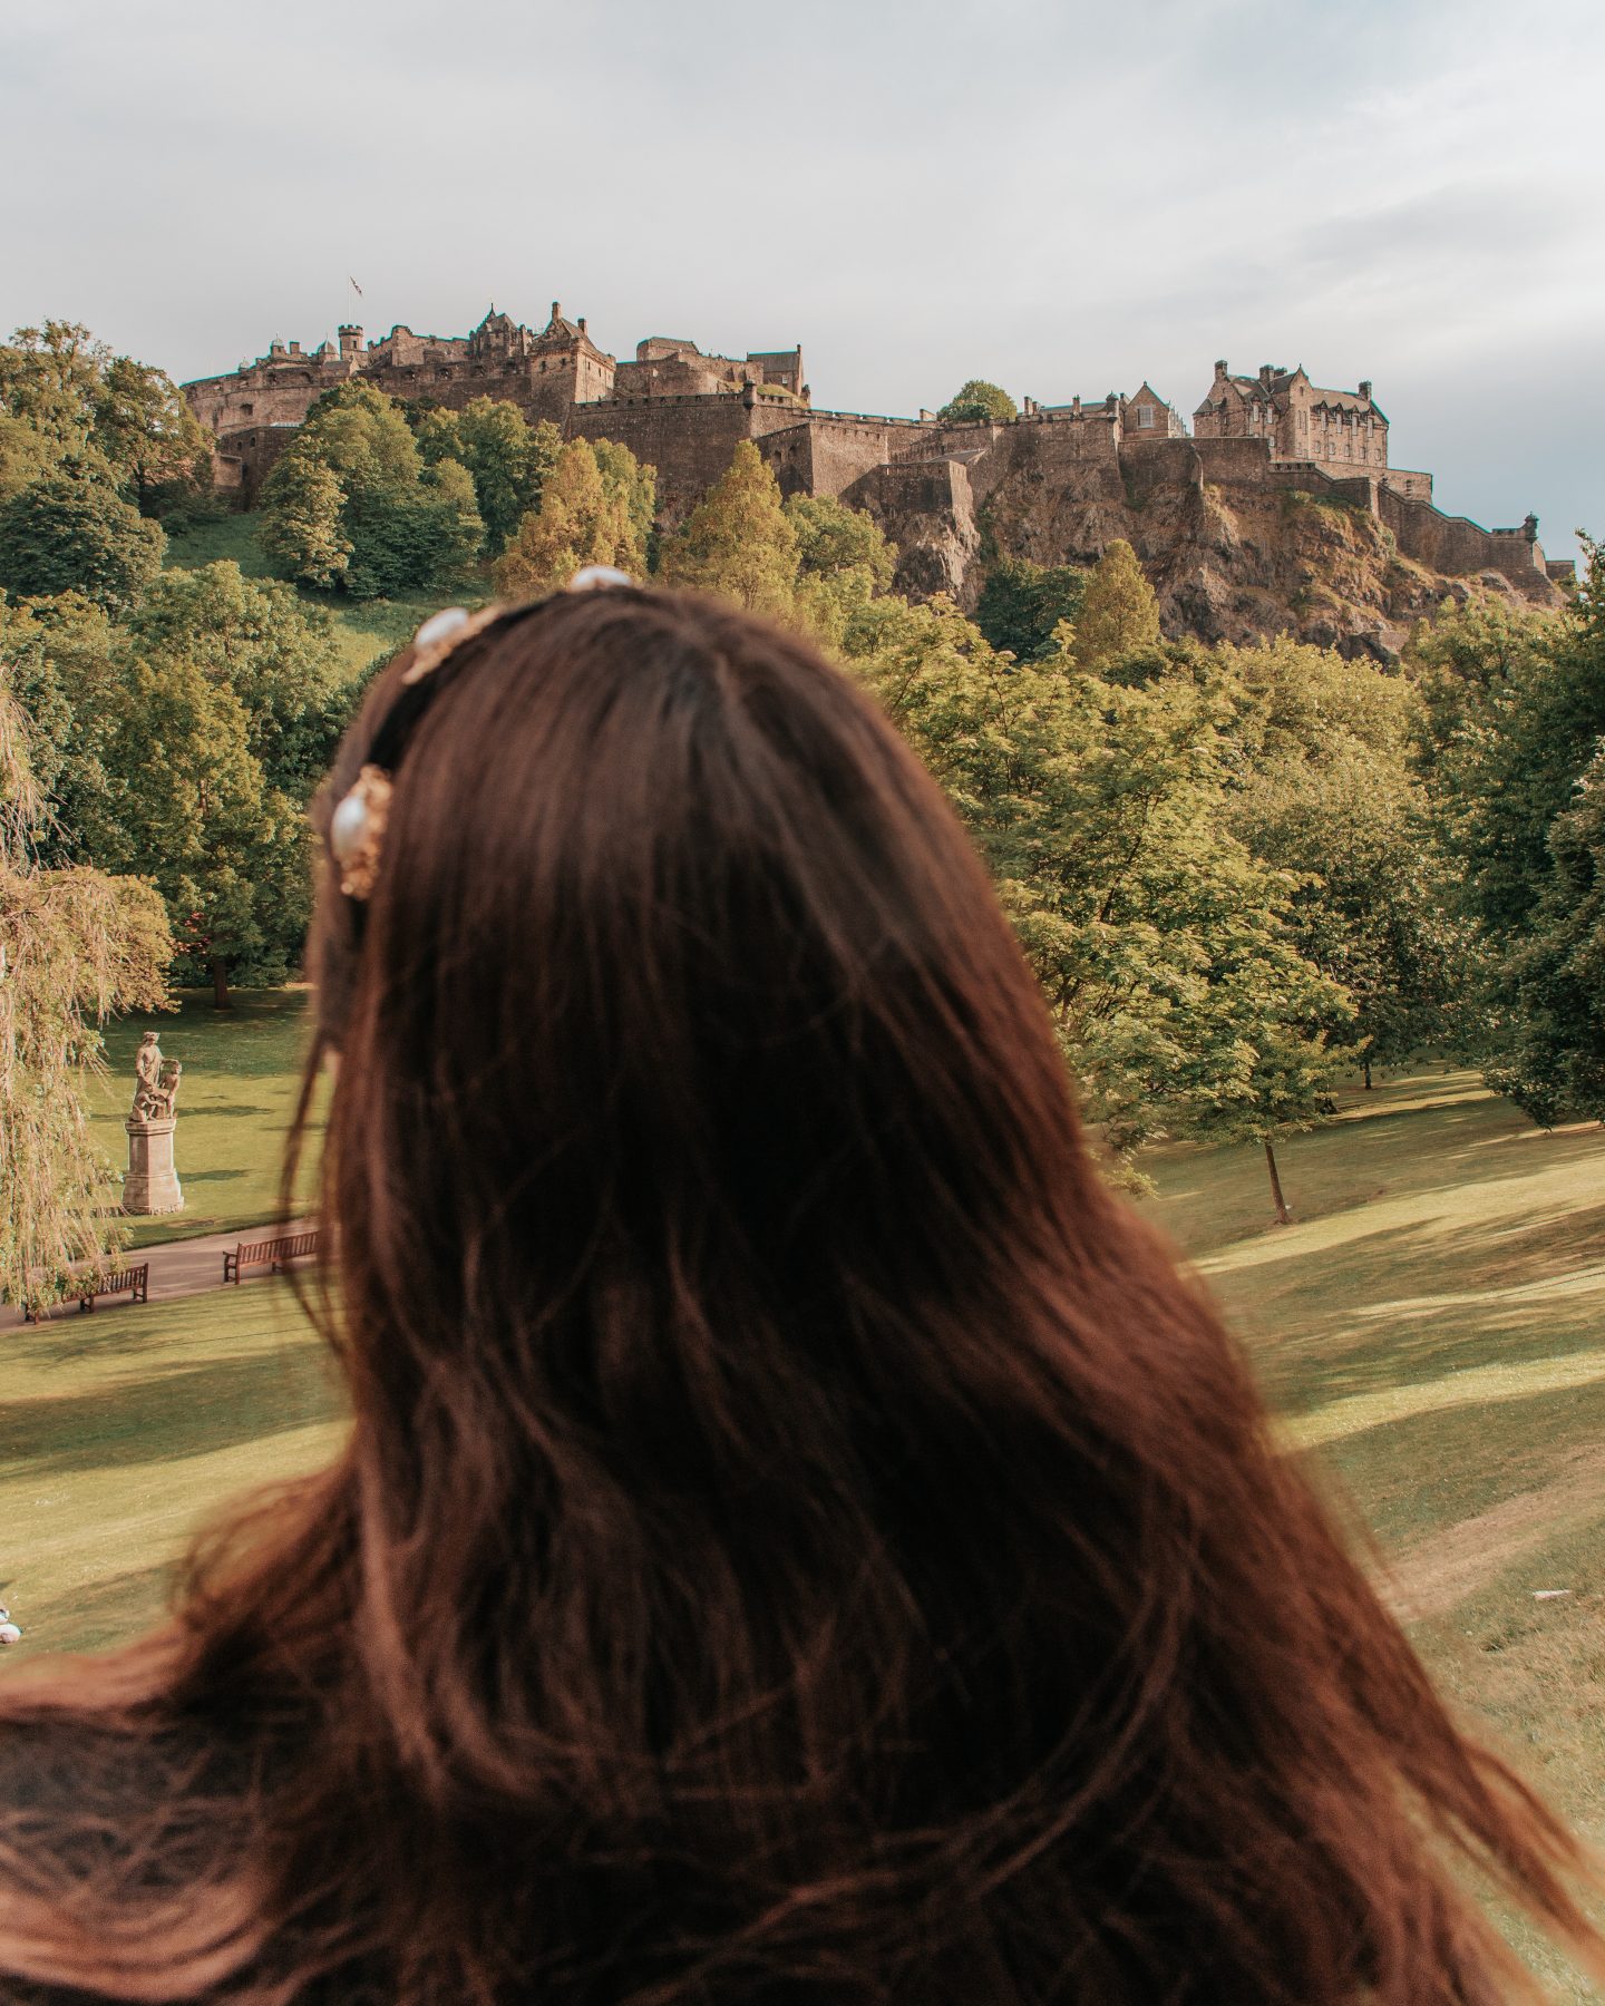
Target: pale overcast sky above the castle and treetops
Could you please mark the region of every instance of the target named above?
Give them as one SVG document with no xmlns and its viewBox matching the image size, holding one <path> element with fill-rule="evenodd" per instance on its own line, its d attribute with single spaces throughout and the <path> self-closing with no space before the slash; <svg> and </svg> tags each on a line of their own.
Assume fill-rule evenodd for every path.
<svg viewBox="0 0 1605 2006">
<path fill-rule="evenodd" d="M 1599 0 L 0 4 L 0 323 L 175 377 L 490 301 L 911 413 L 1374 381 L 1483 524 L 1605 534 Z M 0 329 L 0 331 L 4 331 Z"/>
</svg>

